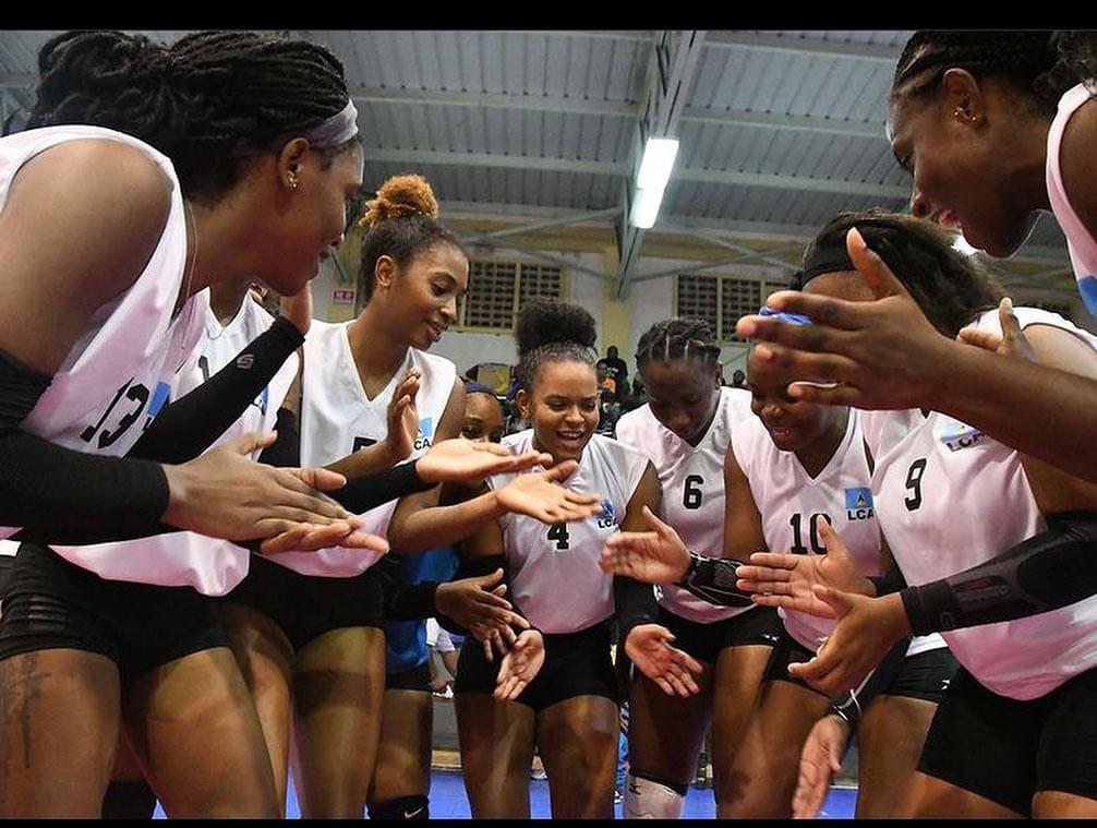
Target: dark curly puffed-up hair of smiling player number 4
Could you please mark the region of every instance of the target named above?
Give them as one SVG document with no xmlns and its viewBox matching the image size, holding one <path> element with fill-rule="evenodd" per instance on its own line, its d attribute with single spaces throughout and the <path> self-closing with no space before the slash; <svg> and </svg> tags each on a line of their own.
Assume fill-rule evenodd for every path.
<svg viewBox="0 0 1097 828">
<path fill-rule="evenodd" d="M 598 362 L 595 317 L 579 305 L 555 299 L 530 300 L 518 314 L 518 379 L 527 392 L 545 362 Z"/>
</svg>

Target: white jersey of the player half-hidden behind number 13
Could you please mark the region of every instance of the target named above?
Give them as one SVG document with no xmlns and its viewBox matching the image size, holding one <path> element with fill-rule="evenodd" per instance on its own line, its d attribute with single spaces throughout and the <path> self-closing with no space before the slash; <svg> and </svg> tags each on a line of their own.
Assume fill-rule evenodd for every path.
<svg viewBox="0 0 1097 828">
<path fill-rule="evenodd" d="M 236 316 L 222 326 L 213 310 L 205 312 L 205 328 L 196 359 L 179 373 L 176 396 L 194 390 L 233 360 L 237 354 L 274 322 L 273 317 L 246 296 Z M 278 410 L 297 373 L 293 354 L 247 411 L 217 438 L 211 450 L 249 432 L 269 432 Z M 255 451 L 251 459 L 258 459 Z M 204 595 L 225 595 L 248 573 L 251 555 L 237 544 L 191 532 L 177 532 L 117 544 L 81 547 L 84 560 L 93 560 L 100 578 L 139 581 L 161 586 L 193 586 Z"/>
</svg>

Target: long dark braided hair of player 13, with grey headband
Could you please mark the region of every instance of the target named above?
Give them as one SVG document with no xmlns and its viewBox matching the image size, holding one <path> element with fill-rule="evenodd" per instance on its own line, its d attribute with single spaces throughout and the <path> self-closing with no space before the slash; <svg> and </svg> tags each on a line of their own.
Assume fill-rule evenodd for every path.
<svg viewBox="0 0 1097 828">
<path fill-rule="evenodd" d="M 171 46 L 114 31 L 66 32 L 38 53 L 27 127 L 92 124 L 167 155 L 190 198 L 239 178 L 241 142 L 267 145 L 323 123 L 350 100 L 323 46 L 252 32 L 195 32 Z M 358 138 L 323 153 L 354 146 Z"/>
</svg>

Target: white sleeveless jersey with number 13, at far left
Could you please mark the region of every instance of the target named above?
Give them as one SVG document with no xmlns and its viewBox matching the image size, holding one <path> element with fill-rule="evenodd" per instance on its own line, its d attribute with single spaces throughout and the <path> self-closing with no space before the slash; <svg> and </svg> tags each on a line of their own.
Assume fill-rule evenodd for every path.
<svg viewBox="0 0 1097 828">
<path fill-rule="evenodd" d="M 72 345 L 22 428 L 50 443 L 95 455 L 122 456 L 170 400 L 177 372 L 199 344 L 208 292 L 191 296 L 177 316 L 186 266 L 186 222 L 171 161 L 137 138 L 95 126 L 29 130 L 0 139 L 0 209 L 12 179 L 35 155 L 66 141 L 117 141 L 150 157 L 171 183 L 171 208 L 160 239 L 137 280 L 102 305 Z M 4 527 L 8 537 L 19 527 Z M 137 582 L 156 564 L 128 561 L 111 574 L 86 547 L 53 546 L 66 560 L 104 578 Z M 133 564 L 133 566 L 129 566 Z"/>
</svg>

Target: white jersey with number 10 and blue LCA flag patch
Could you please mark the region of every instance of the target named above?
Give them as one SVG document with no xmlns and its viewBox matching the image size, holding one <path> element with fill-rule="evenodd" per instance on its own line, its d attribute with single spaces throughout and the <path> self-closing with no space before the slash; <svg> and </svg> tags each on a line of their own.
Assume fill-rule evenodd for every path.
<svg viewBox="0 0 1097 828">
<path fill-rule="evenodd" d="M 815 519 L 822 515 L 861 572 L 880 574 L 880 526 L 856 410 L 849 410 L 841 443 L 814 478 L 801 466 L 795 452 L 782 451 L 773 445 L 758 417 L 736 427 L 732 451 L 750 484 L 769 551 L 825 555 L 826 547 L 815 528 Z M 834 622 L 828 618 L 793 609 L 778 612 L 789 635 L 813 652 L 834 630 Z"/>
</svg>

